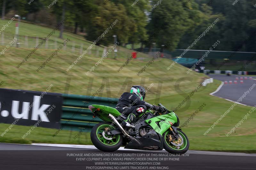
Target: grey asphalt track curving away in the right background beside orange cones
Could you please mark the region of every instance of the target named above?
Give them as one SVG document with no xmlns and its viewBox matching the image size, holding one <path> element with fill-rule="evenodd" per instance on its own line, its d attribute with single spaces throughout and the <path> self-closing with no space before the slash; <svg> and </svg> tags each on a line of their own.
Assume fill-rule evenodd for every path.
<svg viewBox="0 0 256 170">
<path fill-rule="evenodd" d="M 248 91 L 249 88 L 252 87 L 253 84 L 256 85 L 256 77 L 253 76 L 227 76 L 225 74 L 210 74 L 209 76 L 222 82 L 228 82 L 228 84 L 224 83 L 220 90 L 215 92 L 213 95 L 232 101 L 237 101 L 244 94 L 244 92 Z M 236 77 L 238 77 L 238 79 L 236 79 Z M 247 79 L 245 79 L 245 77 Z M 252 79 L 250 79 L 250 77 L 252 77 Z M 243 83 L 240 82 L 240 78 L 243 78 Z M 229 81 L 232 81 L 232 84 L 229 84 Z M 234 81 L 237 81 L 237 84 L 234 84 Z M 247 106 L 255 106 L 256 87 L 254 87 L 249 94 L 246 94 L 245 98 L 243 98 L 243 100 L 239 103 Z"/>
</svg>

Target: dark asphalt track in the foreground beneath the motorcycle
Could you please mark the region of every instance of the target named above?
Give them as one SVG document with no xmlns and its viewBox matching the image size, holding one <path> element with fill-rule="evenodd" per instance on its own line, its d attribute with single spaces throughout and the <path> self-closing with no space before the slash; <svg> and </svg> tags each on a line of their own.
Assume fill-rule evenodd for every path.
<svg viewBox="0 0 256 170">
<path fill-rule="evenodd" d="M 223 152 L 197 152 L 188 151 L 189 155 L 185 156 L 159 156 L 157 154 L 166 154 L 166 151 L 138 151 L 121 149 L 116 152 L 101 152 L 93 146 L 84 148 L 78 147 L 53 147 L 23 144 L 0 144 L 0 169 L 1 170 L 85 170 L 85 169 L 149 169 L 147 165 L 95 165 L 96 162 L 159 162 L 160 165 L 152 165 L 152 169 L 179 169 L 179 170 L 212 170 L 212 169 L 246 169 L 255 170 L 256 154 L 245 153 L 223 153 Z M 83 146 L 83 145 L 81 145 Z M 74 156 L 74 154 L 87 154 L 87 156 Z M 119 154 L 120 156 L 104 156 L 102 154 Z M 72 155 L 73 154 L 73 155 Z M 97 156 L 88 156 L 88 154 L 101 154 Z M 134 154 L 128 155 L 127 154 Z M 145 156 L 137 154 L 156 154 Z M 166 158 L 168 161 L 99 161 L 99 160 L 79 160 L 80 158 L 110 158 L 110 159 L 149 159 L 149 158 Z M 106 167 L 107 166 L 107 167 Z"/>
</svg>

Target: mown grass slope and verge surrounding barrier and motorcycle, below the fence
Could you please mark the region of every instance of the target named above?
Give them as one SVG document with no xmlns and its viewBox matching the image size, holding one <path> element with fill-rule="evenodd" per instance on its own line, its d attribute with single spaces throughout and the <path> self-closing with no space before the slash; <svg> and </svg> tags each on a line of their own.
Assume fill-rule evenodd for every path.
<svg viewBox="0 0 256 170">
<path fill-rule="evenodd" d="M 1 23 L 1 22 L 0 22 Z M 24 24 L 25 26 L 25 24 Z M 24 28 L 24 27 L 23 27 Z M 11 28 L 10 28 L 11 29 Z M 22 27 L 20 27 L 22 29 Z M 29 27 L 29 29 L 32 29 Z M 34 29 L 34 28 L 33 28 Z M 44 30 L 44 27 L 38 29 Z M 48 33 L 48 30 L 38 31 L 40 36 Z M 34 30 L 34 32 L 35 32 Z M 6 30 L 7 31 L 7 30 Z M 22 34 L 22 31 L 21 31 Z M 36 34 L 39 35 L 39 34 Z M 71 36 L 71 34 L 70 34 Z M 74 35 L 75 36 L 75 35 Z M 80 37 L 81 38 L 81 37 Z M 81 40 L 82 41 L 82 40 Z M 0 46 L 4 48 L 4 46 Z M 102 50 L 102 48 L 101 48 Z M 26 63 L 20 68 L 16 66 L 30 53 L 29 48 L 8 48 L 0 57 L 0 82 L 1 88 L 12 88 L 32 91 L 45 91 L 53 85 L 51 92 L 92 95 L 104 85 L 104 89 L 97 95 L 102 97 L 119 98 L 123 92 L 129 92 L 132 85 L 143 85 L 147 89 L 146 101 L 157 104 L 161 102 L 167 108 L 175 109 L 198 85 L 207 78 L 204 74 L 192 71 L 186 74 L 188 68 L 175 64 L 172 69 L 166 68 L 172 63 L 168 59 L 156 59 L 149 64 L 152 58 L 139 54 L 139 58 L 146 58 L 146 61 L 132 59 L 122 70 L 117 71 L 125 63 L 125 58 L 130 56 L 131 50 L 120 47 L 118 57 L 115 59 L 109 55 L 102 60 L 94 70 L 86 76 L 100 57 L 95 57 L 95 53 L 86 54 L 80 59 L 71 70 L 66 69 L 72 64 L 78 54 L 70 53 L 68 50 L 60 50 L 42 70 L 36 71 L 45 60 L 52 55 L 54 50 L 38 49 Z M 102 51 L 100 51 L 102 52 Z M 99 55 L 98 55 L 99 56 Z M 144 68 L 144 70 L 143 70 Z M 137 73 L 139 73 L 139 76 Z M 70 84 L 67 85 L 67 80 Z M 180 123 L 186 122 L 196 109 L 205 103 L 205 107 L 199 111 L 193 120 L 182 130 L 188 135 L 191 150 L 212 150 L 212 151 L 237 151 L 251 152 L 255 149 L 256 121 L 255 114 L 240 125 L 229 137 L 228 133 L 245 114 L 250 107 L 237 105 L 228 113 L 207 135 L 205 131 L 218 120 L 220 115 L 225 113 L 232 102 L 209 95 L 220 85 L 220 81 L 206 87 L 200 87 L 190 99 L 176 111 L 180 117 Z M 69 88 L 65 88 L 69 87 Z M 4 131 L 8 124 L 0 124 L 0 129 Z M 80 138 L 73 139 L 77 132 L 62 130 L 57 137 L 52 137 L 56 129 L 36 128 L 24 140 L 21 136 L 30 129 L 27 126 L 15 125 L 4 137 L 0 137 L 0 142 L 5 143 L 56 143 L 56 144 L 92 144 L 89 133 L 84 133 Z M 0 133 L 2 133 L 0 131 Z"/>
</svg>

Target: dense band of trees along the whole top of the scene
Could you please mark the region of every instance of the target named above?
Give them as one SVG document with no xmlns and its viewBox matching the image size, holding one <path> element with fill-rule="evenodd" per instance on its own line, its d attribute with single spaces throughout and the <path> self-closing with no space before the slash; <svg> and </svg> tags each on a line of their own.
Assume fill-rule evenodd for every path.
<svg viewBox="0 0 256 170">
<path fill-rule="evenodd" d="M 98 44 L 121 45 L 148 42 L 146 47 L 166 45 L 186 49 L 211 24 L 218 22 L 191 49 L 255 52 L 256 2 L 254 0 L 3 0 L 5 18 L 19 14 L 23 20 L 56 26 L 69 16 L 62 30 L 83 33 L 96 40 L 111 24 L 115 26 Z M 49 8 L 51 3 L 54 4 Z M 29 4 L 30 3 L 30 4 Z M 164 24 L 165 23 L 165 24 Z M 167 24 L 166 24 L 167 23 Z M 163 26 L 164 24 L 164 26 Z M 62 34 L 60 35 L 62 37 Z"/>
</svg>

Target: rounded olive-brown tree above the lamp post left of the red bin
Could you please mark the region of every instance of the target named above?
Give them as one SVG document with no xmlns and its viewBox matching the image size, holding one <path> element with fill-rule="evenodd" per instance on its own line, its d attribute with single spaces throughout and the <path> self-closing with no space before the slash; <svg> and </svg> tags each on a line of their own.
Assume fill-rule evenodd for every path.
<svg viewBox="0 0 256 170">
<path fill-rule="evenodd" d="M 86 29 L 86 39 L 94 41 L 108 29 L 108 32 L 104 33 L 104 37 L 98 41 L 98 44 L 113 44 L 113 35 L 117 35 L 119 42 L 127 43 L 132 33 L 132 22 L 127 16 L 124 5 L 112 2 L 105 5 L 102 1 L 95 1 L 95 4 L 98 7 L 91 12 L 91 17 L 88 17 L 89 24 Z"/>
</svg>

